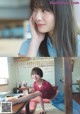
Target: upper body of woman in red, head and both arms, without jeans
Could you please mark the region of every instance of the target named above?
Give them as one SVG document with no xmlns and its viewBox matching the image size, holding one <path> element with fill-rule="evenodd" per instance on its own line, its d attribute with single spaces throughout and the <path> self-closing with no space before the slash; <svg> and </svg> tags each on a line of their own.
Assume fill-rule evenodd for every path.
<svg viewBox="0 0 80 114">
<path fill-rule="evenodd" d="M 52 99 L 56 95 L 56 90 L 53 91 L 52 85 L 48 81 L 42 79 L 43 71 L 40 68 L 38 67 L 33 68 L 31 76 L 34 81 L 33 84 L 34 92 L 27 96 L 18 98 L 17 100 L 12 99 L 9 101 L 11 101 L 12 104 L 14 105 L 16 103 L 25 102 L 27 100 L 31 100 L 32 98 L 39 97 L 42 106 L 42 111 L 40 114 L 45 114 L 46 112 L 44 109 L 43 98 Z"/>
</svg>

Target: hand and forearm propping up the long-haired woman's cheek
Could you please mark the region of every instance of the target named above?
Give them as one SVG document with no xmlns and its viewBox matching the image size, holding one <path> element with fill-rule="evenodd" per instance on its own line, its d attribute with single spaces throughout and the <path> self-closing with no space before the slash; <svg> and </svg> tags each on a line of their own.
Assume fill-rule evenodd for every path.
<svg viewBox="0 0 80 114">
<path fill-rule="evenodd" d="M 32 39 L 28 49 L 27 57 L 36 57 L 40 44 L 45 38 L 45 33 L 40 33 L 38 31 L 36 23 L 34 22 L 32 16 L 30 18 L 30 27 Z"/>
</svg>

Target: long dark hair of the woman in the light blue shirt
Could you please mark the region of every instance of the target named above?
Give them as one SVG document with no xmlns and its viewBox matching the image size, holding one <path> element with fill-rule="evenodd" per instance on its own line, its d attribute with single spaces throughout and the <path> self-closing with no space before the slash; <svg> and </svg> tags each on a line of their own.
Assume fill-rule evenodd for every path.
<svg viewBox="0 0 80 114">
<path fill-rule="evenodd" d="M 76 36 L 78 29 L 74 20 L 72 0 L 65 0 L 68 4 L 50 4 L 50 2 L 64 3 L 64 0 L 31 0 L 30 7 L 32 11 L 34 8 L 43 8 L 47 11 L 52 11 L 55 15 L 54 39 L 52 36 L 51 40 L 52 44 L 55 45 L 57 56 L 76 56 Z M 49 56 L 47 33 L 45 37 L 40 45 L 39 51 L 42 56 Z"/>
</svg>

